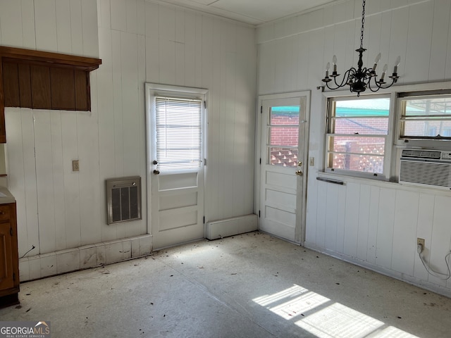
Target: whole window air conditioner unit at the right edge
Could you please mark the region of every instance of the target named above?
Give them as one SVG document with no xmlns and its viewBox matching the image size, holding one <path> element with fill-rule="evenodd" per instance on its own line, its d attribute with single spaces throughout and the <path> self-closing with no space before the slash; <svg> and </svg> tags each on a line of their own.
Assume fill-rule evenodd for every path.
<svg viewBox="0 0 451 338">
<path fill-rule="evenodd" d="M 451 189 L 451 151 L 402 149 L 400 183 Z"/>
</svg>

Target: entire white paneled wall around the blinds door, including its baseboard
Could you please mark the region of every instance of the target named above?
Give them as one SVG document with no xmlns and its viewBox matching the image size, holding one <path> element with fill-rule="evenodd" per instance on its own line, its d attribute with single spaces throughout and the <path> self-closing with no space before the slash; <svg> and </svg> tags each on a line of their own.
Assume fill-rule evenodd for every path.
<svg viewBox="0 0 451 338">
<path fill-rule="evenodd" d="M 254 37 L 245 25 L 144 0 L 0 1 L 1 45 L 102 60 L 91 112 L 6 109 L 19 255 L 36 246 L 20 262 L 22 280 L 149 252 L 147 210 L 106 225 L 104 187 L 140 175 L 147 205 L 146 81 L 209 89 L 206 221 L 252 213 Z"/>
</svg>

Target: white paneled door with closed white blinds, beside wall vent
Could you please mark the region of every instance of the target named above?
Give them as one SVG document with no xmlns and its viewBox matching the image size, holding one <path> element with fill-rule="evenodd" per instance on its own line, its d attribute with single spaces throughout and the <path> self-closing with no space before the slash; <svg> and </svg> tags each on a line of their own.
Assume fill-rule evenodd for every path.
<svg viewBox="0 0 451 338">
<path fill-rule="evenodd" d="M 205 93 L 147 87 L 153 248 L 161 249 L 204 237 Z"/>
</svg>

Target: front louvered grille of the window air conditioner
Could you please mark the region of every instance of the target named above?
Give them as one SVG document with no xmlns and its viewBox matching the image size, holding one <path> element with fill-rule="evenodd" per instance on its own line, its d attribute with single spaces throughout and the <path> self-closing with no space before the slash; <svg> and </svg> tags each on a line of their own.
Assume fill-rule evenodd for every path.
<svg viewBox="0 0 451 338">
<path fill-rule="evenodd" d="M 401 158 L 400 183 L 451 189 L 451 163 Z"/>
</svg>

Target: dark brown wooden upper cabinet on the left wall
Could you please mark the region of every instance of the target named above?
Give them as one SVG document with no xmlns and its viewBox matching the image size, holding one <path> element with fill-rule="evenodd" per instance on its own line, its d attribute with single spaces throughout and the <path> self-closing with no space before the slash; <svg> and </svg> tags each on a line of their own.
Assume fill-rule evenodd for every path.
<svg viewBox="0 0 451 338">
<path fill-rule="evenodd" d="M 90 111 L 89 72 L 99 58 L 0 46 L 0 143 L 4 107 Z"/>
</svg>

